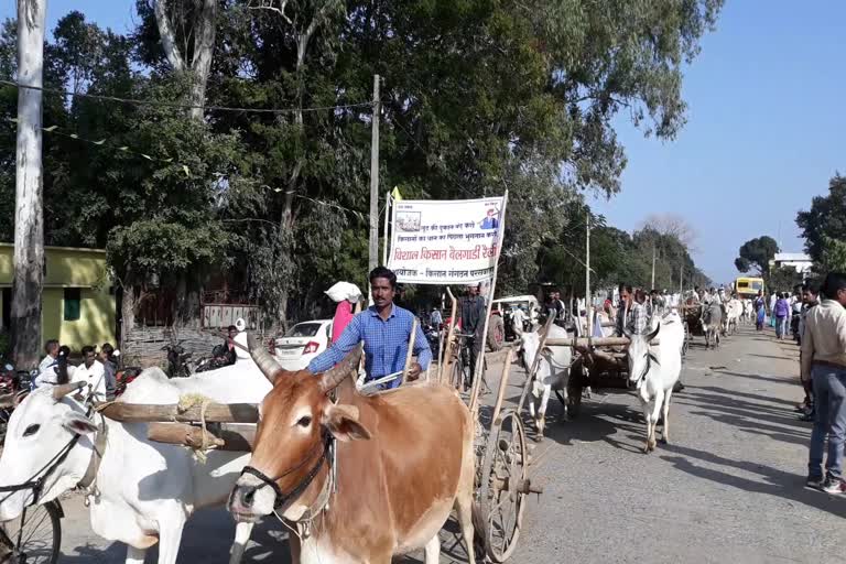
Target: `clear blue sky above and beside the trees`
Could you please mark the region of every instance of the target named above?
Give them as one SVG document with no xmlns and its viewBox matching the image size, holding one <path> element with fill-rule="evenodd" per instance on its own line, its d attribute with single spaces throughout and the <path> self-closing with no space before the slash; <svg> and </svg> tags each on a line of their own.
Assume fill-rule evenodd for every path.
<svg viewBox="0 0 846 564">
<path fill-rule="evenodd" d="M 48 29 L 74 9 L 116 31 L 137 19 L 133 0 L 48 0 Z M 8 17 L 14 2 L 0 6 Z M 737 275 L 737 250 L 753 237 L 801 251 L 796 212 L 846 173 L 845 29 L 843 0 L 727 0 L 685 73 L 687 124 L 657 141 L 617 120 L 622 192 L 596 209 L 627 230 L 651 213 L 684 217 L 697 264 L 717 282 Z"/>
</svg>

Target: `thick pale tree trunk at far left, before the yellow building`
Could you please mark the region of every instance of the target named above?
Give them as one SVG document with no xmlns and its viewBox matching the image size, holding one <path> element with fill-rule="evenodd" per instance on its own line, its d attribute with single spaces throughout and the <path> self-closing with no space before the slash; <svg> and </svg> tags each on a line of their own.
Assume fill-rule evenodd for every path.
<svg viewBox="0 0 846 564">
<path fill-rule="evenodd" d="M 18 0 L 18 82 L 41 88 L 46 0 Z M 41 349 L 44 273 L 44 213 L 41 163 L 41 90 L 18 90 L 18 150 L 14 203 L 12 355 L 19 369 L 34 368 Z"/>
</svg>

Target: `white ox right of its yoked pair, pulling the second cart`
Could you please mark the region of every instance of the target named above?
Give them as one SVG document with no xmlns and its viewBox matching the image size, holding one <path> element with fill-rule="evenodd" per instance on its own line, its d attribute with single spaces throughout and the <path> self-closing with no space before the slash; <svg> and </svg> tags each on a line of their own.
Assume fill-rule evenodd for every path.
<svg viewBox="0 0 846 564">
<path fill-rule="evenodd" d="M 655 449 L 655 426 L 662 414 L 664 427 L 662 440 L 670 441 L 670 398 L 673 386 L 682 372 L 682 346 L 684 326 L 675 313 L 664 316 L 657 328 L 647 335 L 626 334 L 629 344 L 629 381 L 638 391 L 647 421 L 647 444 L 644 453 Z M 659 337 L 658 345 L 650 341 Z"/>
</svg>

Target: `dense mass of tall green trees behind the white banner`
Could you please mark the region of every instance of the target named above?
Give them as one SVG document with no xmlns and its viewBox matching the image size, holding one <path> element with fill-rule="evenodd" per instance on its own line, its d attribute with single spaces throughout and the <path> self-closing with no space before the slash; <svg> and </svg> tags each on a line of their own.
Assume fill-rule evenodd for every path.
<svg viewBox="0 0 846 564">
<path fill-rule="evenodd" d="M 45 95 L 46 240 L 107 248 L 124 288 L 171 281 L 186 312 L 189 294 L 223 270 L 270 317 L 308 315 L 332 282 L 366 282 L 379 74 L 382 192 L 449 199 L 509 189 L 502 292 L 542 276 L 577 285 L 572 257 L 583 257 L 578 234 L 590 213 L 582 194 L 620 189 L 618 116 L 644 134 L 675 135 L 683 66 L 722 4 L 220 0 L 204 15 L 193 1 L 167 0 L 156 12 L 138 0 L 127 35 L 70 12 L 46 45 L 45 85 L 150 104 Z M 163 47 L 162 14 L 183 65 Z M 204 18 L 215 33 L 200 39 L 192 30 L 207 31 Z M 199 41 L 213 43 L 213 57 L 195 119 L 199 70 L 187 61 Z M 7 22 L 6 79 L 13 46 Z M 14 116 L 14 100 L 13 87 L 0 88 L 3 117 Z M 12 185 L 13 161 L 0 162 L 0 229 L 11 225 Z M 595 219 L 595 268 L 608 281 L 648 282 L 627 261 L 646 245 L 651 263 L 652 236 Z M 657 285 L 675 288 L 675 264 L 695 270 L 671 239 L 659 238 L 666 260 Z"/>
</svg>

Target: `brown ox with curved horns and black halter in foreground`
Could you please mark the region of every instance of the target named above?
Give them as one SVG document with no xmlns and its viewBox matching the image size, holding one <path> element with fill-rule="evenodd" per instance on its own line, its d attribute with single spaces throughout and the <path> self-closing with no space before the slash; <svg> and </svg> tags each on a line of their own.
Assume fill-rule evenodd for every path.
<svg viewBox="0 0 846 564">
<path fill-rule="evenodd" d="M 474 425 L 451 389 L 415 384 L 365 397 L 355 388 L 360 348 L 314 376 L 282 370 L 250 345 L 273 390 L 261 403 L 250 465 L 229 497 L 236 520 L 275 510 L 297 531 L 294 563 L 388 564 L 425 547 L 433 564 L 455 508 L 475 562 Z"/>
</svg>

